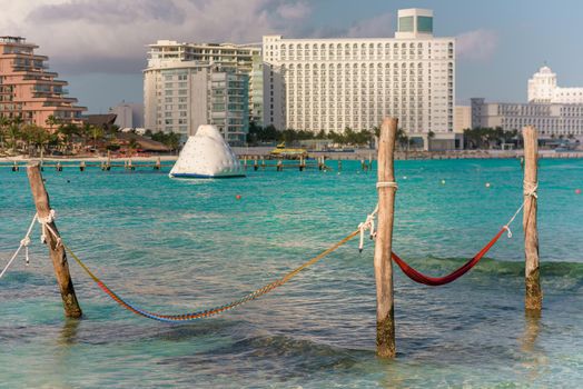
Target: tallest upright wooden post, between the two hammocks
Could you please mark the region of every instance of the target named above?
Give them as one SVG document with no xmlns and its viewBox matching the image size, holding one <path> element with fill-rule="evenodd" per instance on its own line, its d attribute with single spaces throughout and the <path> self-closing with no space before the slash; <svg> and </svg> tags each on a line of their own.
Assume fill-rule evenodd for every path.
<svg viewBox="0 0 583 389">
<path fill-rule="evenodd" d="M 375 279 L 376 279 L 376 353 L 383 358 L 394 358 L 395 315 L 393 298 L 393 262 L 391 259 L 393 246 L 393 218 L 395 210 L 395 172 L 393 159 L 397 119 L 385 118 L 381 126 L 378 143 L 378 182 L 385 186 L 378 188 L 378 228 L 375 241 Z M 388 186 L 387 186 L 388 183 Z"/>
</svg>

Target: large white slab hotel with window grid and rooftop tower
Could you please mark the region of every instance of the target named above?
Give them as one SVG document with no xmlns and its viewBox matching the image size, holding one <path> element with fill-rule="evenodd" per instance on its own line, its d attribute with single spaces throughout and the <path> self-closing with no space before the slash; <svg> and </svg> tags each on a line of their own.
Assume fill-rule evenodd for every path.
<svg viewBox="0 0 583 389">
<path fill-rule="evenodd" d="M 264 124 L 373 129 L 385 116 L 432 148 L 454 149 L 455 41 L 433 36 L 433 11 L 398 11 L 395 38 L 264 36 Z"/>
</svg>

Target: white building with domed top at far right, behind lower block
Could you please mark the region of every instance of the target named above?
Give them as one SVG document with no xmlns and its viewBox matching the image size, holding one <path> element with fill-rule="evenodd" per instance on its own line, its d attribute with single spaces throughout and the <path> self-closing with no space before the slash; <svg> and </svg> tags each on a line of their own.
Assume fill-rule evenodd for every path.
<svg viewBox="0 0 583 389">
<path fill-rule="evenodd" d="M 559 87 L 556 73 L 544 66 L 528 80 L 528 102 L 582 104 L 583 88 Z"/>
</svg>

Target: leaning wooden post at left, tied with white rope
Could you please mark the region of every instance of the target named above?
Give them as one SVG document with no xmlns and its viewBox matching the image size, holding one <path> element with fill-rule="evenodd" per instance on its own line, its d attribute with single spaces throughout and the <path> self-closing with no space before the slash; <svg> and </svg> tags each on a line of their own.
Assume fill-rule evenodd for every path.
<svg viewBox="0 0 583 389">
<path fill-rule="evenodd" d="M 31 162 L 27 168 L 27 174 L 30 182 L 30 190 L 34 199 L 34 205 L 37 207 L 37 215 L 41 219 L 47 218 L 51 208 L 49 203 L 49 194 L 47 193 L 47 189 L 42 182 L 39 163 Z M 55 221 L 51 221 L 48 226 L 52 228 L 57 236 L 59 235 L 59 230 L 57 229 Z M 71 275 L 69 273 L 69 265 L 67 262 L 65 248 L 50 232 L 47 232 L 47 246 L 50 250 L 50 258 L 55 268 L 55 276 L 57 277 L 57 282 L 59 283 L 62 305 L 65 307 L 65 316 L 68 318 L 80 318 L 82 312 L 81 308 L 79 307 L 79 302 L 77 301 L 77 296 L 75 295 L 75 288 L 71 280 Z"/>
</svg>

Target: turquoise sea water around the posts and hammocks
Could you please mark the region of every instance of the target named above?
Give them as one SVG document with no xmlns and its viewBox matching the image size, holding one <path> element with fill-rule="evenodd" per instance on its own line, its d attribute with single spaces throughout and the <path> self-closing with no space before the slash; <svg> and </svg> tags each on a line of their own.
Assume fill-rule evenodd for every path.
<svg viewBox="0 0 583 389">
<path fill-rule="evenodd" d="M 85 312 L 71 321 L 37 229 L 30 266 L 19 259 L 0 280 L 0 387 L 581 387 L 583 160 L 540 164 L 540 319 L 523 311 L 522 216 L 514 237 L 454 283 L 419 286 L 395 268 L 394 361 L 375 357 L 369 241 L 187 325 L 120 309 L 71 262 Z M 234 300 L 353 231 L 375 207 L 376 179 L 356 162 L 343 168 L 214 181 L 150 170 L 45 177 L 61 235 L 86 263 L 129 301 L 179 313 Z M 522 201 L 516 160 L 397 161 L 396 171 L 394 248 L 433 276 L 477 252 Z M 32 215 L 26 173 L 3 168 L 2 267 Z"/>
</svg>

